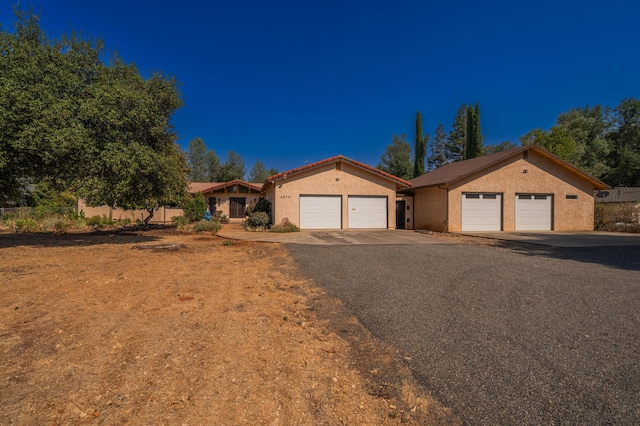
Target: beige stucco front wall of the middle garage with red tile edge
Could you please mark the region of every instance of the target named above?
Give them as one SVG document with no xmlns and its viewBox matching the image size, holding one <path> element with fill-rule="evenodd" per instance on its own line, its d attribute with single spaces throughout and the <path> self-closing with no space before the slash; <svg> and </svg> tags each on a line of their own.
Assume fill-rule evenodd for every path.
<svg viewBox="0 0 640 426">
<path fill-rule="evenodd" d="M 396 184 L 394 181 L 349 163 L 330 163 L 295 173 L 269 184 L 266 197 L 271 201 L 273 223 L 284 218 L 300 225 L 301 195 L 341 195 L 342 228 L 348 227 L 348 196 L 387 197 L 387 227 L 396 226 Z"/>
</svg>

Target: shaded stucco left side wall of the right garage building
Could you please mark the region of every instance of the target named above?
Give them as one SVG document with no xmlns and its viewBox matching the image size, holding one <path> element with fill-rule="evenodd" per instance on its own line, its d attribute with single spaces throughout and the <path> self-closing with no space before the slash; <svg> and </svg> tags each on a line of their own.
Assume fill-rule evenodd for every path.
<svg viewBox="0 0 640 426">
<path fill-rule="evenodd" d="M 447 227 L 447 190 L 431 187 L 414 191 L 416 229 L 444 232 Z"/>
</svg>

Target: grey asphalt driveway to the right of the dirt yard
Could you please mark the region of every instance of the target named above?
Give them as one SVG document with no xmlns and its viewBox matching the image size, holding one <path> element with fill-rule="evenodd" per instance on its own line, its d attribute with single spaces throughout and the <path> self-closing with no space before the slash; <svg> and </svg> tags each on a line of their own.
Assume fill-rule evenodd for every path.
<svg viewBox="0 0 640 426">
<path fill-rule="evenodd" d="M 640 424 L 637 247 L 289 249 L 468 424 Z"/>
</svg>

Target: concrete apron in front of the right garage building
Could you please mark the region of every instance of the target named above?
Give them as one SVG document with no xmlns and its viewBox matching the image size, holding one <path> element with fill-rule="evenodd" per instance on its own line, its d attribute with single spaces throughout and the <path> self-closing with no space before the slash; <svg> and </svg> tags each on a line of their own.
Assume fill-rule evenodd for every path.
<svg viewBox="0 0 640 426">
<path fill-rule="evenodd" d="M 492 238 L 552 247 L 640 246 L 640 234 L 595 231 L 460 232 L 461 235 Z"/>
</svg>

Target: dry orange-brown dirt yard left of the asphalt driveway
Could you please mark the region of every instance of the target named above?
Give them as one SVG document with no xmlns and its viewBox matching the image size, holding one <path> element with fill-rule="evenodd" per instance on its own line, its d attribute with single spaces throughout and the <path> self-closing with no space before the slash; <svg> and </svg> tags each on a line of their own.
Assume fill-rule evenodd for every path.
<svg viewBox="0 0 640 426">
<path fill-rule="evenodd" d="M 284 246 L 0 231 L 0 424 L 459 424 Z"/>
</svg>

